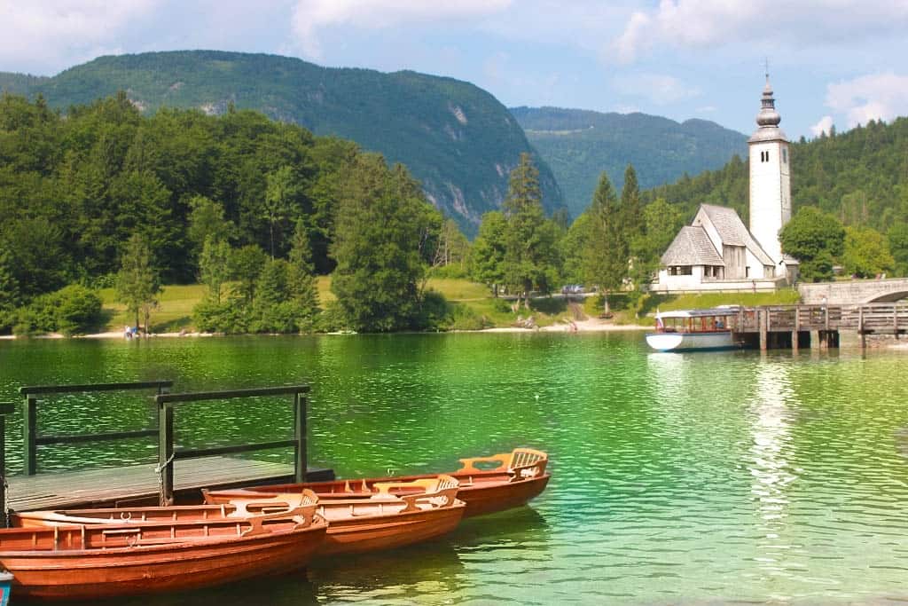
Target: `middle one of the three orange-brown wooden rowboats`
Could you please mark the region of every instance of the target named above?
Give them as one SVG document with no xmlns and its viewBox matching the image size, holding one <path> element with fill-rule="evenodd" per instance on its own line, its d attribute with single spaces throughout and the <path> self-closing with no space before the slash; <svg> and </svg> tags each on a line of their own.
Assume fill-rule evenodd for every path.
<svg viewBox="0 0 908 606">
<path fill-rule="evenodd" d="M 448 475 L 412 482 L 379 482 L 370 498 L 328 499 L 318 512 L 329 522 L 318 555 L 394 549 L 428 541 L 453 531 L 464 503 L 455 495 L 458 481 Z M 391 494 L 400 489 L 404 494 Z M 231 504 L 236 499 L 280 499 L 278 492 L 203 491 L 205 502 Z"/>
</svg>

